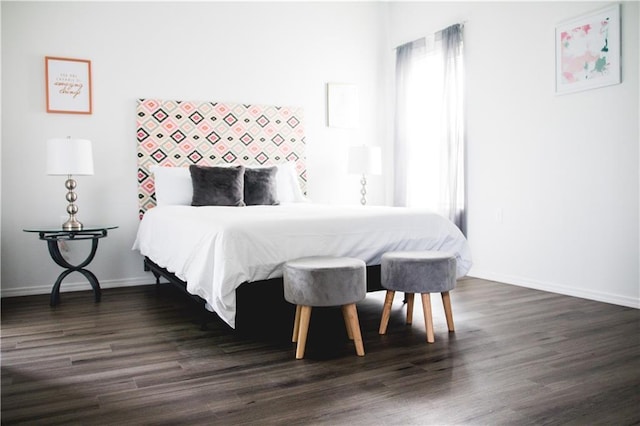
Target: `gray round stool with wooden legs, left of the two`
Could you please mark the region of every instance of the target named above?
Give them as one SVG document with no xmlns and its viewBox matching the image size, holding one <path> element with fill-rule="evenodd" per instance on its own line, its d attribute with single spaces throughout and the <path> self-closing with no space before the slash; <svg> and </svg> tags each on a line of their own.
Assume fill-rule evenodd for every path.
<svg viewBox="0 0 640 426">
<path fill-rule="evenodd" d="M 296 305 L 292 341 L 296 359 L 304 357 L 313 306 L 341 306 L 349 339 L 364 355 L 356 302 L 367 294 L 366 264 L 349 257 L 306 257 L 284 264 L 284 298 Z"/>
</svg>

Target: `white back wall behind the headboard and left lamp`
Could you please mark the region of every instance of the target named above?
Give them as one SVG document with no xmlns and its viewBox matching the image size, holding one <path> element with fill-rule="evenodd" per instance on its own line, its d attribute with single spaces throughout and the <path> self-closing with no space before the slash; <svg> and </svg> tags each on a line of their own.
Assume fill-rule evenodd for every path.
<svg viewBox="0 0 640 426">
<path fill-rule="evenodd" d="M 2 296 L 47 293 L 60 268 L 22 229 L 61 223 L 64 179 L 45 175 L 51 137 L 88 138 L 95 175 L 78 181 L 79 219 L 115 224 L 91 270 L 103 287 L 152 283 L 131 251 L 138 225 L 137 98 L 305 108 L 309 195 L 358 203 L 346 172 L 353 143 L 384 141 L 376 93 L 380 21 L 375 3 L 5 2 L 2 7 Z M 44 57 L 90 59 L 93 114 L 47 114 Z M 360 130 L 325 126 L 327 82 L 356 84 Z M 336 153 L 337 158 L 336 158 Z M 376 184 L 377 182 L 377 184 Z M 382 179 L 369 200 L 382 203 Z M 69 244 L 81 256 L 82 243 Z M 77 253 L 76 253 L 77 252 Z M 78 285 L 75 286 L 74 283 Z M 63 290 L 89 286 L 69 276 Z"/>
</svg>

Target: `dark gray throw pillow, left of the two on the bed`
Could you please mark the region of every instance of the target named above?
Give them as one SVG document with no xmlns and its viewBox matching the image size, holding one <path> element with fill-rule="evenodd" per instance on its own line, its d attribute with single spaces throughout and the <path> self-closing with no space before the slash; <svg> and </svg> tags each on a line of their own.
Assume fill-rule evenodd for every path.
<svg viewBox="0 0 640 426">
<path fill-rule="evenodd" d="M 244 206 L 244 166 L 189 166 L 192 206 Z"/>
</svg>

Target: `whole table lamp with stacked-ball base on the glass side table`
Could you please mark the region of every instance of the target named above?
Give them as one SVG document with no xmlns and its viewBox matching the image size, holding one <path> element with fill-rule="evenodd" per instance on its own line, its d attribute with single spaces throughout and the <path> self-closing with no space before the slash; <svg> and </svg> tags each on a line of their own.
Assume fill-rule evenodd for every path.
<svg viewBox="0 0 640 426">
<path fill-rule="evenodd" d="M 87 139 L 54 138 L 47 141 L 47 174 L 67 176 L 64 183 L 67 188 L 66 199 L 69 202 L 69 219 L 62 224 L 65 231 L 80 231 L 82 223 L 76 219 L 78 196 L 75 193 L 76 181 L 73 175 L 93 174 L 93 153 L 91 141 Z"/>
</svg>

